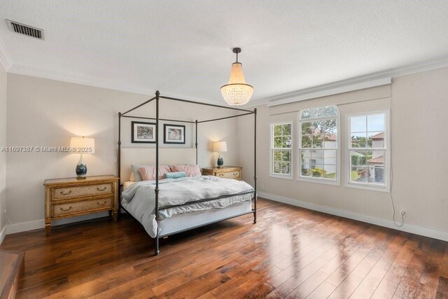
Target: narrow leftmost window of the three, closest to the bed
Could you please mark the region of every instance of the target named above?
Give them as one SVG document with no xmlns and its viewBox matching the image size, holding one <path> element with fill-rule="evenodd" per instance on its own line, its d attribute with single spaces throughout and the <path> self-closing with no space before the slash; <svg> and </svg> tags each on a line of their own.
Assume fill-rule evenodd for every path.
<svg viewBox="0 0 448 299">
<path fill-rule="evenodd" d="M 271 176 L 292 179 L 292 123 L 271 124 Z"/>
</svg>

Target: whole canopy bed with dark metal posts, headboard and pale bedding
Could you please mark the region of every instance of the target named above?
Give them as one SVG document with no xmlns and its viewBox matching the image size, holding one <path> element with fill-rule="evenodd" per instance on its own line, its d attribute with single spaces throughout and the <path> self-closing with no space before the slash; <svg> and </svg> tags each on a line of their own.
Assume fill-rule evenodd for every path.
<svg viewBox="0 0 448 299">
<path fill-rule="evenodd" d="M 161 99 L 214 106 L 217 109 L 233 109 L 244 113 L 213 120 L 168 120 L 195 125 L 195 148 L 159 148 L 159 138 L 155 139 L 155 148 L 121 148 L 121 118 L 144 118 L 130 116 L 129 113 L 152 101 L 156 103 L 155 118 L 144 119 L 155 120 L 155 132 L 159 132 L 159 120 L 167 120 L 159 117 Z M 162 97 L 159 92 L 156 92 L 152 99 L 125 113 L 118 113 L 118 173 L 122 186 L 120 189 L 120 211 L 123 209 L 136 218 L 148 235 L 155 239 L 155 255 L 160 252 L 159 239 L 168 235 L 251 213 L 253 214 L 253 223 L 256 223 L 256 148 L 254 147 L 255 183 L 253 187 L 244 181 L 220 179 L 216 176 L 160 179 L 156 175 L 152 181 L 134 183 L 129 181 L 131 165 L 153 165 L 155 169 L 159 169 L 160 165 L 197 164 L 197 130 L 200 123 L 248 115 L 254 116 L 256 127 L 256 109 L 248 111 Z M 254 139 L 256 141 L 256 130 L 254 130 Z"/>
</svg>

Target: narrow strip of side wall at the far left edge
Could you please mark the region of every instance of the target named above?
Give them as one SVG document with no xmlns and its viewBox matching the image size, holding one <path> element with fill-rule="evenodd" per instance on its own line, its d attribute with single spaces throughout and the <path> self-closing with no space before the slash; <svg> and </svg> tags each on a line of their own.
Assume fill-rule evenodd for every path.
<svg viewBox="0 0 448 299">
<path fill-rule="evenodd" d="M 6 71 L 0 64 L 0 148 L 6 146 Z M 6 225 L 4 203 L 6 202 L 6 153 L 0 152 L 0 243 Z"/>
</svg>

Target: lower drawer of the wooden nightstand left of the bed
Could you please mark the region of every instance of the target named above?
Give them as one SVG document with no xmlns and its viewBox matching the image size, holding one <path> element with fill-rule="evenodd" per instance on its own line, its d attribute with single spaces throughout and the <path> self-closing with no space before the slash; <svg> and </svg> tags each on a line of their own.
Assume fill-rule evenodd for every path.
<svg viewBox="0 0 448 299">
<path fill-rule="evenodd" d="M 85 211 L 91 212 L 99 209 L 111 209 L 113 207 L 113 197 L 104 197 L 99 200 L 82 200 L 80 202 L 68 202 L 66 204 L 53 204 L 52 216 L 64 216 L 78 214 Z"/>
</svg>

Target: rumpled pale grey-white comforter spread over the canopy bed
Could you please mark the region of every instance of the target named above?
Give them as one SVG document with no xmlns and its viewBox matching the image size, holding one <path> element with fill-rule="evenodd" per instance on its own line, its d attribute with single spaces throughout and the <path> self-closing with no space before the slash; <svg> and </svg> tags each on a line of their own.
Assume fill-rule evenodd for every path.
<svg viewBox="0 0 448 299">
<path fill-rule="evenodd" d="M 158 230 L 155 221 L 155 181 L 134 183 L 122 193 L 122 205 L 142 225 L 151 237 Z M 206 211 L 224 208 L 251 200 L 253 188 L 244 181 L 220 179 L 216 176 L 195 176 L 181 179 L 164 179 L 159 181 L 159 208 L 169 207 L 159 211 L 159 218 L 170 218 L 176 214 Z M 223 197 L 233 195 L 229 197 Z M 223 198 L 218 198 L 223 197 Z M 186 204 L 196 200 L 211 199 L 207 202 Z M 160 230 L 160 229 L 159 229 Z"/>
</svg>

